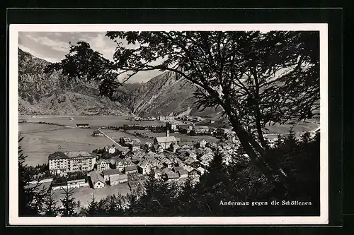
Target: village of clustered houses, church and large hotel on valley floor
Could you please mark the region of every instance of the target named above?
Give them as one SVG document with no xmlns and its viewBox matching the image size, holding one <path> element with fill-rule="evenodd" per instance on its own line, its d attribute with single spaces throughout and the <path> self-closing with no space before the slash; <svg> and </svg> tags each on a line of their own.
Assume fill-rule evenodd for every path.
<svg viewBox="0 0 354 235">
<path fill-rule="evenodd" d="M 139 119 L 134 117 L 133 119 Z M 148 118 L 151 119 L 151 118 Z M 96 128 L 93 138 L 109 138 L 113 145 L 106 145 L 93 152 L 61 152 L 57 151 L 48 156 L 48 167 L 51 177 L 41 179 L 40 183 L 52 187 L 53 191 L 62 188 L 91 188 L 93 191 L 99 188 L 114 188 L 127 186 L 130 191 L 144 188 L 144 181 L 149 176 L 155 179 L 163 179 L 168 182 L 176 182 L 183 185 L 188 177 L 192 182 L 198 183 L 200 176 L 207 173 L 210 162 L 219 152 L 223 161 L 232 159 L 232 155 L 242 152 L 239 140 L 232 129 L 213 128 L 210 126 L 195 125 L 203 119 L 195 117 L 178 118 L 183 121 L 190 121 L 185 124 L 175 121 L 171 116 L 159 116 L 166 125 L 149 126 L 164 131 L 164 136 L 156 136 L 151 142 L 142 143 L 139 138 L 122 137 L 113 140 L 103 131 L 107 129 L 119 130 L 122 126 L 102 126 Z M 210 121 L 210 123 L 212 123 Z M 90 128 L 89 124 L 78 123 L 76 128 Z M 134 124 L 125 125 L 130 130 L 147 129 L 147 126 Z M 209 142 L 204 138 L 197 141 L 185 141 L 177 138 L 171 133 L 183 135 L 207 135 L 215 136 L 218 142 Z M 277 138 L 269 139 L 270 146 Z M 248 159 L 246 154 L 243 154 Z M 82 174 L 78 174 L 82 173 Z M 70 177 L 68 175 L 74 175 Z M 60 179 L 66 179 L 57 181 Z M 38 183 L 38 181 L 33 181 Z"/>
</svg>

